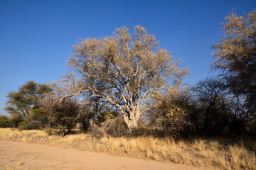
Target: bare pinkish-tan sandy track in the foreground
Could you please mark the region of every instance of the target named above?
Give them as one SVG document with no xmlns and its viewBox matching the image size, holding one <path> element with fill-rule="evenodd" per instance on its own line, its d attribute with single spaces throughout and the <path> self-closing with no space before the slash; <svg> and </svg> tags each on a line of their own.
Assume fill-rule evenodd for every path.
<svg viewBox="0 0 256 170">
<path fill-rule="evenodd" d="M 0 169 L 203 170 L 206 168 L 0 140 Z"/>
</svg>

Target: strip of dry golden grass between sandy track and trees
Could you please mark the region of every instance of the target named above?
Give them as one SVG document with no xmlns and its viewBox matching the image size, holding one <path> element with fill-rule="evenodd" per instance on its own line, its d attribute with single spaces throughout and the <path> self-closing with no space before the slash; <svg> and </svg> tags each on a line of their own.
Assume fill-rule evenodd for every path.
<svg viewBox="0 0 256 170">
<path fill-rule="evenodd" d="M 113 138 L 107 136 L 98 139 L 85 134 L 60 137 L 57 135 L 49 136 L 41 130 L 18 131 L 8 128 L 0 129 L 0 140 L 36 142 L 43 145 L 73 147 L 93 152 L 216 169 L 256 170 L 256 142 L 223 145 L 217 140 L 193 140 L 192 142 L 180 140 L 175 142 L 173 139 L 154 137 Z"/>
</svg>

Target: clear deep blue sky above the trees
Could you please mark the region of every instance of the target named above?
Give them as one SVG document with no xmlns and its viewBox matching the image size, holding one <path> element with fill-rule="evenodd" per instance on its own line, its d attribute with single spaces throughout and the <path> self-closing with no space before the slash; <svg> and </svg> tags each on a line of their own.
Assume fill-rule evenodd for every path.
<svg viewBox="0 0 256 170">
<path fill-rule="evenodd" d="M 231 11 L 252 11 L 256 1 L 4 1 L 0 0 L 0 113 L 6 95 L 26 81 L 59 79 L 78 38 L 111 35 L 140 25 L 188 67 L 186 83 L 210 73 L 210 45 L 222 37 Z"/>
</svg>

